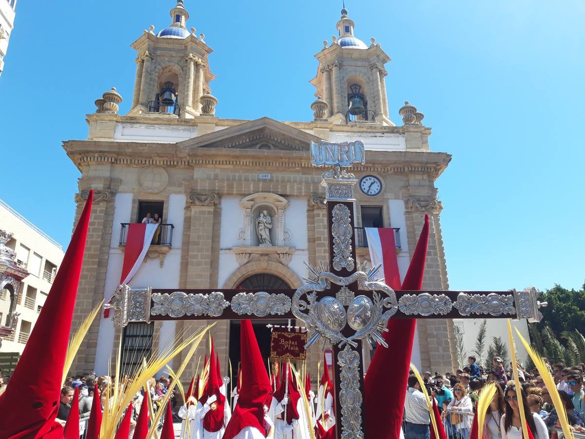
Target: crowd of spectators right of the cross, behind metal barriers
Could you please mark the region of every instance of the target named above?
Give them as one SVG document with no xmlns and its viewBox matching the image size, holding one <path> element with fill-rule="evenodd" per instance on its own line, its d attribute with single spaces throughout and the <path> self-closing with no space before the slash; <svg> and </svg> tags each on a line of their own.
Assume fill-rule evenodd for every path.
<svg viewBox="0 0 585 439">
<path fill-rule="evenodd" d="M 441 414 L 442 427 L 450 439 L 469 439 L 472 430 L 473 414 L 481 389 L 494 383 L 496 393 L 485 415 L 483 437 L 486 439 L 519 439 L 522 427 L 518 407 L 518 391 L 521 392 L 526 422 L 535 439 L 555 438 L 556 429 L 561 427 L 559 415 L 553 407 L 550 389 L 537 369 L 526 371 L 518 368 L 521 389 L 517 389 L 511 371 L 505 368 L 499 356 L 493 358 L 493 368 L 484 370 L 470 356 L 469 366 L 457 369 L 455 373 L 439 372 L 424 374 L 424 383 L 429 395 L 435 399 Z M 560 399 L 565 406 L 567 420 L 571 428 L 585 433 L 584 411 L 585 392 L 583 375 L 585 365 L 566 366 L 563 363 L 549 365 L 549 373 L 554 379 Z M 405 439 L 428 439 L 432 428 L 428 405 L 417 377 L 409 376 L 408 390 L 404 407 Z"/>
</svg>

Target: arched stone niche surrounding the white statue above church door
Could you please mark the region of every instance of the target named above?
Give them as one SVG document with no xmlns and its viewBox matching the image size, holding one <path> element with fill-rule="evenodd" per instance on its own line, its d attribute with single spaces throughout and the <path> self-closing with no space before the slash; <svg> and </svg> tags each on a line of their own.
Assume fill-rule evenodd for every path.
<svg viewBox="0 0 585 439">
<path fill-rule="evenodd" d="M 242 198 L 240 207 L 243 210 L 244 225 L 240 229 L 238 239 L 242 246 L 260 246 L 257 234 L 257 219 L 260 215 L 269 215 L 272 228 L 269 229 L 270 244 L 263 246 L 285 246 L 290 243 L 290 232 L 285 227 L 288 201 L 285 198 L 267 192 L 259 192 Z"/>
</svg>

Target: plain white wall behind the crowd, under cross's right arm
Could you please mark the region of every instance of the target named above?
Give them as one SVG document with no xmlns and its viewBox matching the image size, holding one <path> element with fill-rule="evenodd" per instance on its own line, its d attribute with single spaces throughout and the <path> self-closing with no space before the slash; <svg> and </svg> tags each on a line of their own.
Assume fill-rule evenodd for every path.
<svg viewBox="0 0 585 439">
<path fill-rule="evenodd" d="M 466 319 L 453 319 L 453 323 L 459 325 L 459 327 L 463 328 L 463 346 L 464 351 L 467 355 L 475 355 L 473 349 L 475 348 L 477 334 L 479 332 L 479 328 L 481 326 L 481 322 L 483 319 L 481 318 L 466 318 Z M 512 333 L 514 334 L 514 344 L 516 347 L 517 358 L 521 361 L 524 365 L 526 365 L 526 360 L 528 359 L 528 352 L 524 349 L 521 341 L 517 338 L 516 331 L 514 328 L 518 328 L 522 337 L 526 339 L 526 341 L 530 341 L 530 335 L 528 332 L 528 321 L 526 319 L 523 320 L 512 320 Z M 504 341 L 505 345 L 508 348 L 508 356 L 510 356 L 510 343 L 508 342 L 508 323 L 507 319 L 505 318 L 488 318 L 487 319 L 487 336 L 486 336 L 486 345 L 484 347 L 484 355 L 487 355 L 487 348 L 493 341 L 494 337 L 500 337 L 502 341 Z M 477 355 L 476 355 L 477 356 Z M 479 361 L 479 358 L 478 360 Z M 481 362 L 483 366 L 483 362 Z M 508 368 L 508 365 L 506 365 Z"/>
</svg>

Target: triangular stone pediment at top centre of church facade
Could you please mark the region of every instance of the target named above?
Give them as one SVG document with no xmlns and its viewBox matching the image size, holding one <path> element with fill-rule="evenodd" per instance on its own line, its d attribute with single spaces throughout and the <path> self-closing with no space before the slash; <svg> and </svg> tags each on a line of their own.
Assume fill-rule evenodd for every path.
<svg viewBox="0 0 585 439">
<path fill-rule="evenodd" d="M 267 117 L 204 134 L 177 145 L 181 148 L 222 148 L 308 151 L 315 135 Z"/>
</svg>

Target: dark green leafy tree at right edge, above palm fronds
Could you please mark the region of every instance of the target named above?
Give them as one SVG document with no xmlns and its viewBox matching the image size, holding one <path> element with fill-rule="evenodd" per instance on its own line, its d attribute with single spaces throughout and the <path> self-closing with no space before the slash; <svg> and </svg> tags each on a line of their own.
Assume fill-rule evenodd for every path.
<svg viewBox="0 0 585 439">
<path fill-rule="evenodd" d="M 567 290 L 555 284 L 538 297 L 539 301 L 548 302 L 548 306 L 541 308 L 542 320 L 538 324 L 539 330 L 546 326 L 555 334 L 563 331 L 583 330 L 585 328 L 585 284 L 581 290 Z"/>
</svg>

